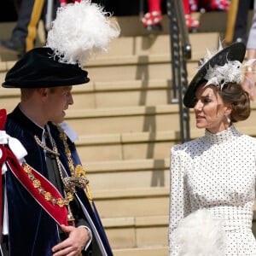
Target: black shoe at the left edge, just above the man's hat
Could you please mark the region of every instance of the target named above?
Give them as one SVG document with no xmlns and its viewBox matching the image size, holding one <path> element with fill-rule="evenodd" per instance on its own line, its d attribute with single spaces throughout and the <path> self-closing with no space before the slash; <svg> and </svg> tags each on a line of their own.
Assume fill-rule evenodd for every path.
<svg viewBox="0 0 256 256">
<path fill-rule="evenodd" d="M 11 38 L 9 41 L 0 41 L 0 52 L 15 53 L 19 57 L 25 54 L 25 45 L 20 38 Z"/>
</svg>

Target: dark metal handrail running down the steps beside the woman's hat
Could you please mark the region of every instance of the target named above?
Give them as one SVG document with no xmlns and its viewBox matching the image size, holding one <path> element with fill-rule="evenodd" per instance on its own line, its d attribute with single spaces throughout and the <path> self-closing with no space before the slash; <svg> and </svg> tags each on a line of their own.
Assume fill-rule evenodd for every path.
<svg viewBox="0 0 256 256">
<path fill-rule="evenodd" d="M 191 58 L 189 32 L 185 23 L 181 0 L 167 0 L 172 54 L 172 102 L 179 105 L 180 141 L 190 140 L 189 109 L 183 106 L 183 95 L 188 87 L 187 60 Z"/>
</svg>

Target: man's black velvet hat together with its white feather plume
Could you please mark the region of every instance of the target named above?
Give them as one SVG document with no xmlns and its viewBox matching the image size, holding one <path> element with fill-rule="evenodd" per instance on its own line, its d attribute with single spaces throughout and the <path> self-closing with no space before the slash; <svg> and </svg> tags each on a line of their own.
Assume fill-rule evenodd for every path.
<svg viewBox="0 0 256 256">
<path fill-rule="evenodd" d="M 60 7 L 43 48 L 22 56 L 6 74 L 3 87 L 46 88 L 88 83 L 84 67 L 106 52 L 119 36 L 119 25 L 107 12 L 88 0 Z"/>
</svg>

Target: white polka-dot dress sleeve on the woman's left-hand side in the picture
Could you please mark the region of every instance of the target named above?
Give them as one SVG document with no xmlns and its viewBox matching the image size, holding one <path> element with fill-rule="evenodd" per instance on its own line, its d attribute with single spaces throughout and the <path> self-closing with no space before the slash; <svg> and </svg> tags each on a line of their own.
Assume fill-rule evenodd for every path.
<svg viewBox="0 0 256 256">
<path fill-rule="evenodd" d="M 170 212 L 169 212 L 169 253 L 175 256 L 177 249 L 172 241 L 172 231 L 175 230 L 181 219 L 191 212 L 189 191 L 186 183 L 185 168 L 189 165 L 186 158 L 182 157 L 180 146 L 171 150 L 171 183 L 170 183 Z"/>
</svg>

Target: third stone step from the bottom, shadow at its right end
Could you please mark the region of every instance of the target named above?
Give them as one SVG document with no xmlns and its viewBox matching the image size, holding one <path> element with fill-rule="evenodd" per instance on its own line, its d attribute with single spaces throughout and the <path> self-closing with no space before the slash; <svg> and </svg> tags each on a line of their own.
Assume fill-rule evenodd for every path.
<svg viewBox="0 0 256 256">
<path fill-rule="evenodd" d="M 170 160 L 136 159 L 84 162 L 92 191 L 169 187 Z"/>
</svg>

